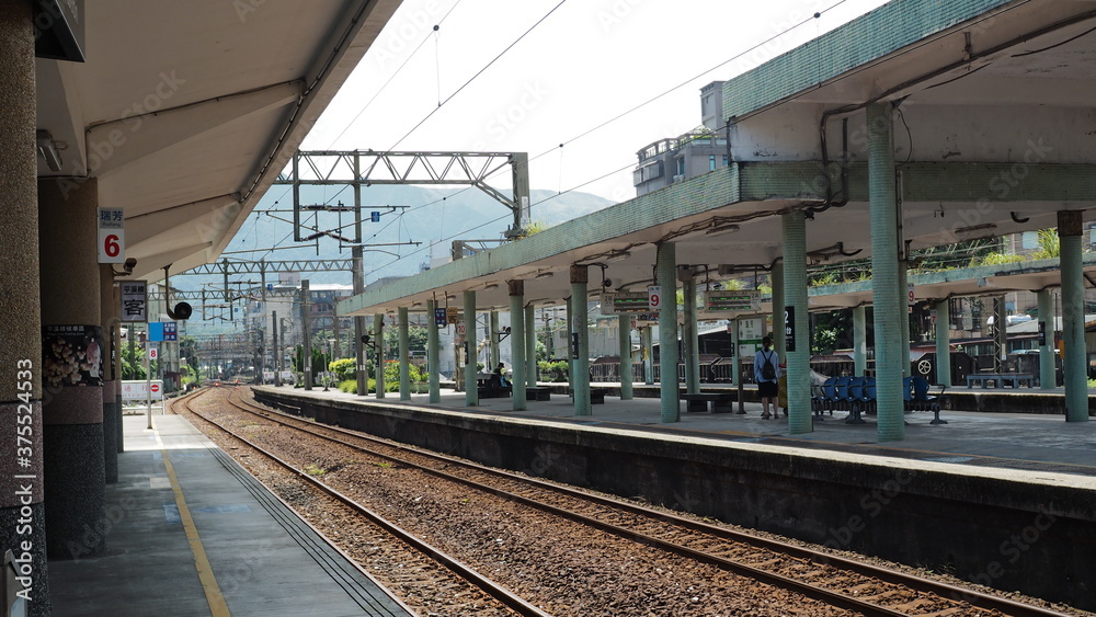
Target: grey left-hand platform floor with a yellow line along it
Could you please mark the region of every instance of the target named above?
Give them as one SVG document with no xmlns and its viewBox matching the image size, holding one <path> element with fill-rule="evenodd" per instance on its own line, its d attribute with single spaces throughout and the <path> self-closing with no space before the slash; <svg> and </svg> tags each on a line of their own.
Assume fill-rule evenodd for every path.
<svg viewBox="0 0 1096 617">
<path fill-rule="evenodd" d="M 88 529 L 106 555 L 49 561 L 54 615 L 412 614 L 182 416 L 152 423 L 124 416 L 118 482 Z"/>
</svg>

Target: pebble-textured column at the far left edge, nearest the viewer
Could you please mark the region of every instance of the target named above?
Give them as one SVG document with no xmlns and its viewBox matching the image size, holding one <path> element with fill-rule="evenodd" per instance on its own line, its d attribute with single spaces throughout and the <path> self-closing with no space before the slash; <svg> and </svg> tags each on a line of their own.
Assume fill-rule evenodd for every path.
<svg viewBox="0 0 1096 617">
<path fill-rule="evenodd" d="M 0 0 L 0 250 L 7 276 L 0 277 L 0 546 L 16 549 L 30 542 L 34 571 L 28 615 L 49 614 L 46 567 L 46 519 L 43 504 L 42 319 L 39 315 L 38 207 L 34 151 L 34 28 L 31 3 Z M 94 262 L 92 262 L 94 263 Z M 30 422 L 30 424 L 25 424 Z M 31 426 L 27 465 L 13 449 L 20 426 Z M 25 430 L 24 430 L 25 432 Z M 21 478 L 30 476 L 30 478 Z M 20 491 L 31 485 L 30 496 Z M 26 503 L 26 500 L 30 503 Z M 28 534 L 18 534 L 20 518 L 30 518 Z M 23 551 L 19 550 L 16 555 Z"/>
</svg>

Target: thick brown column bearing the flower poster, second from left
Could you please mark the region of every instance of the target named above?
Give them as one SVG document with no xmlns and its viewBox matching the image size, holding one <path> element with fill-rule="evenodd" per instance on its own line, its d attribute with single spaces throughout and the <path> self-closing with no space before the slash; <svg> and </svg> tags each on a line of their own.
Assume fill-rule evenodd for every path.
<svg viewBox="0 0 1096 617">
<path fill-rule="evenodd" d="M 38 182 L 46 540 L 52 559 L 94 557 L 105 506 L 99 182 Z M 82 357 L 82 359 L 80 359 Z M 113 429 L 113 426 L 112 426 Z"/>
</svg>

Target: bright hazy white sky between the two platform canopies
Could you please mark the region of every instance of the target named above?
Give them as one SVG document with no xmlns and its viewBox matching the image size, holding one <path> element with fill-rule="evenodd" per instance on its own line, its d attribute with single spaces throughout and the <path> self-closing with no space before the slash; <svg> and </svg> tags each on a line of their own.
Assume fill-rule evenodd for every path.
<svg viewBox="0 0 1096 617">
<path fill-rule="evenodd" d="M 527 151 L 533 188 L 620 202 L 638 150 L 700 124 L 700 87 L 883 3 L 406 0 L 301 148 Z"/>
</svg>

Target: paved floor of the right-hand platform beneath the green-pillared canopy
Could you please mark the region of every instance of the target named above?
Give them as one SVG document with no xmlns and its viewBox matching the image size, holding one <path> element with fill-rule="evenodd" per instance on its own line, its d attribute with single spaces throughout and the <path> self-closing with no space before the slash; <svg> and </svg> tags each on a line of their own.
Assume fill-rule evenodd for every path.
<svg viewBox="0 0 1096 617">
<path fill-rule="evenodd" d="M 593 387 L 618 387 L 618 384 L 594 384 Z M 267 386 L 273 388 L 272 386 Z M 306 393 L 301 388 L 282 386 L 281 390 Z M 706 385 L 705 389 L 709 389 Z M 1039 390 L 1032 390 L 1038 392 Z M 378 402 L 374 395 L 358 397 L 338 390 L 324 392 L 315 388 L 310 396 L 343 400 Z M 1024 389 L 1014 396 L 1024 396 Z M 689 413 L 681 405 L 678 422 L 663 423 L 661 402 L 658 398 L 636 398 L 621 401 L 606 396 L 604 404 L 591 405 L 592 414 L 575 416 L 571 399 L 552 395 L 550 401 L 528 401 L 527 410 L 513 411 L 509 398 L 482 399 L 469 408 L 465 393 L 442 390 L 442 400 L 430 404 L 427 395 L 412 395 L 410 401 L 400 401 L 398 392 L 388 392 L 386 405 L 412 404 L 415 407 L 468 413 L 499 414 L 511 418 L 566 422 L 587 426 L 627 427 L 651 433 L 687 433 L 723 438 L 739 443 L 784 445 L 810 449 L 831 449 L 865 456 L 886 456 L 916 460 L 932 460 L 962 466 L 994 467 L 1003 469 L 1089 476 L 1096 480 L 1096 422 L 1065 422 L 1063 415 L 1026 413 L 989 413 L 944 411 L 940 418 L 947 424 L 932 425 L 932 413 L 906 413 L 905 438 L 881 443 L 874 416 L 867 415 L 865 424 L 845 424 L 843 412 L 834 412 L 826 420 L 814 422 L 814 431 L 791 435 L 787 419 L 763 420 L 761 403 L 744 403 L 746 413 Z M 1096 482 L 1094 482 L 1096 488 Z"/>
</svg>

